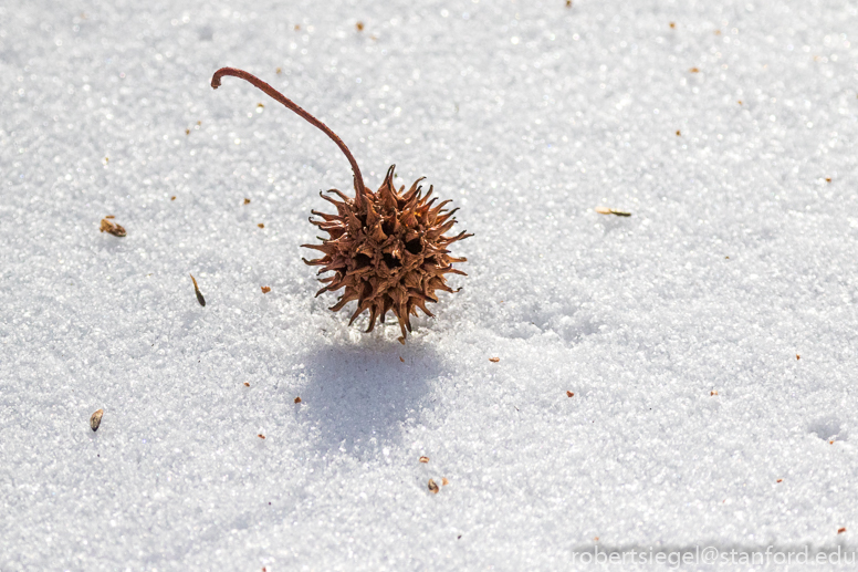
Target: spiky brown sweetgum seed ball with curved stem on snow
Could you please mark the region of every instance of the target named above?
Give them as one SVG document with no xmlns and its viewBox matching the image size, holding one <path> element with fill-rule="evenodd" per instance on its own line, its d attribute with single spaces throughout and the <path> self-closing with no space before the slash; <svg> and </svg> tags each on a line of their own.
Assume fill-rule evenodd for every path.
<svg viewBox="0 0 858 572">
<path fill-rule="evenodd" d="M 241 77 L 259 87 L 323 131 L 346 156 L 354 173 L 355 198 L 337 189 L 328 193 L 342 200 L 322 195 L 336 207 L 337 214 L 311 211 L 321 220 L 311 217 L 310 221 L 327 232 L 328 238 L 320 237 L 322 245 L 302 245 L 324 253 L 322 258 L 304 259 L 304 262 L 323 267 L 320 274 L 334 272 L 334 275 L 320 279 L 325 287 L 316 295 L 345 289 L 331 310 L 336 312 L 353 300 L 357 302 L 349 325 L 368 310 L 367 332 L 372 332 L 376 319 L 384 322 L 387 312 L 393 312 L 402 332 L 400 341 L 405 342 L 411 331 L 410 316 L 418 315 L 417 309 L 431 316 L 433 314 L 426 303 L 438 302 L 436 292 L 454 292 L 447 284 L 446 274 L 467 275 L 452 268 L 453 262 L 464 262 L 465 259 L 452 258 L 447 247 L 472 235 L 462 231 L 454 237 L 443 236 L 456 223 L 453 214 L 458 209 L 446 209 L 449 200 L 435 205 L 437 198 L 430 200 L 432 187 L 423 195 L 419 186 L 422 178 L 417 179 L 407 191 L 405 186 L 397 191 L 394 186 L 395 166 L 387 170 L 376 193 L 368 190 L 348 147 L 324 123 L 242 70 L 218 70 L 211 79 L 211 86 L 217 90 L 223 75 Z"/>
</svg>

